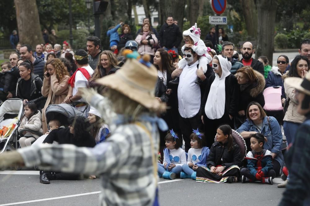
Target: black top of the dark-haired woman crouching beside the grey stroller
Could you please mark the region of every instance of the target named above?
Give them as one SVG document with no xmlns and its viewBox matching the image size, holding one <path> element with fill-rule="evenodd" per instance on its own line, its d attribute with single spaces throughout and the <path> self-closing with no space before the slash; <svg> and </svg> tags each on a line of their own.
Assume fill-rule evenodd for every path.
<svg viewBox="0 0 310 206">
<path fill-rule="evenodd" d="M 67 128 L 58 128 L 52 130 L 43 143 L 50 143 L 52 144 L 53 141 L 58 142 L 61 144 L 72 144 L 77 147 L 94 147 L 96 145 L 94 137 L 91 136 L 89 132 L 85 132 L 86 134 L 83 137 L 77 139 L 70 133 L 69 127 Z"/>
</svg>

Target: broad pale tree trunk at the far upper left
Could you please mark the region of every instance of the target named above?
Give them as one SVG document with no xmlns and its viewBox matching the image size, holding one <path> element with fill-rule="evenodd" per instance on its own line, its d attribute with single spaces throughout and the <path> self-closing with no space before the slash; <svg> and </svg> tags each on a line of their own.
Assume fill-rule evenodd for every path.
<svg viewBox="0 0 310 206">
<path fill-rule="evenodd" d="M 21 44 L 35 48 L 37 44 L 44 43 L 36 0 L 14 0 L 14 4 Z"/>
</svg>

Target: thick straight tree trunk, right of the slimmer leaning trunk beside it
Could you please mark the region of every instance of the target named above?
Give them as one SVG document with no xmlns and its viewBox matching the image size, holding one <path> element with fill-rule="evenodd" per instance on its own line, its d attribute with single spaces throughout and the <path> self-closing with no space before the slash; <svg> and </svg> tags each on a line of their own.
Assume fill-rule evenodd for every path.
<svg viewBox="0 0 310 206">
<path fill-rule="evenodd" d="M 274 49 L 274 28 L 276 24 L 277 0 L 257 1 L 258 27 L 256 59 L 262 55 L 272 62 Z"/>
</svg>

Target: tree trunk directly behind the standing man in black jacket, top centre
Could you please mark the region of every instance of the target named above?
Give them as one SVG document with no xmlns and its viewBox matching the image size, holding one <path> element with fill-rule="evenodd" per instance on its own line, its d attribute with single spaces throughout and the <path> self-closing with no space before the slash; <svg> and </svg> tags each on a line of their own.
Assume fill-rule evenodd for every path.
<svg viewBox="0 0 310 206">
<path fill-rule="evenodd" d="M 166 22 L 167 17 L 172 16 L 178 21 L 180 30 L 183 31 L 185 2 L 185 0 L 159 0 L 161 25 Z"/>
</svg>

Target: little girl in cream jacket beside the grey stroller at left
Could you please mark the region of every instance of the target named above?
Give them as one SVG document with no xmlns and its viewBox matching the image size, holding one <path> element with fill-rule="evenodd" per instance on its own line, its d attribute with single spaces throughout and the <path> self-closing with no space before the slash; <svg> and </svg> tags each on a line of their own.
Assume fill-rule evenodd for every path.
<svg viewBox="0 0 310 206">
<path fill-rule="evenodd" d="M 18 132 L 20 132 L 22 129 L 31 129 L 42 133 L 43 130 L 41 126 L 41 112 L 38 111 L 35 103 L 26 102 L 24 104 L 24 116 L 22 117 Z M 39 135 L 33 134 L 31 132 L 23 132 L 20 135 L 22 136 L 19 140 L 20 147 L 31 146 L 31 142 L 40 137 Z"/>
</svg>

